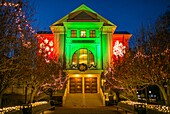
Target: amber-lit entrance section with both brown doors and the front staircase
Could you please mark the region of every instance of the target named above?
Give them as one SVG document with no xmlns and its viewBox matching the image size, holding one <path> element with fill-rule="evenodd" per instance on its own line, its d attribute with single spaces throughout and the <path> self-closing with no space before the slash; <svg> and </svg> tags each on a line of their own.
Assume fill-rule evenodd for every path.
<svg viewBox="0 0 170 114">
<path fill-rule="evenodd" d="M 101 89 L 101 70 L 69 71 L 63 106 L 105 106 L 105 96 Z"/>
</svg>

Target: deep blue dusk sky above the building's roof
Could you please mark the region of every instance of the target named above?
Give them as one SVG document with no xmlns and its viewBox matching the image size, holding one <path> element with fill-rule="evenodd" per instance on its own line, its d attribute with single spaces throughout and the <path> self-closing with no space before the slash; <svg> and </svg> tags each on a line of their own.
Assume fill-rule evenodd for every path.
<svg viewBox="0 0 170 114">
<path fill-rule="evenodd" d="M 30 4 L 35 7 L 39 30 L 49 30 L 51 24 L 85 4 L 117 25 L 116 30 L 135 34 L 168 10 L 170 0 L 30 0 Z"/>
</svg>

